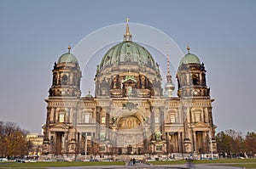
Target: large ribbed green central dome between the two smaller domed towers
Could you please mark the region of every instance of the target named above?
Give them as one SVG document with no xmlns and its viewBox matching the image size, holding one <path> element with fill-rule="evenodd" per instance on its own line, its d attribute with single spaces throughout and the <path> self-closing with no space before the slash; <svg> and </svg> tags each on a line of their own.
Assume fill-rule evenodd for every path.
<svg viewBox="0 0 256 169">
<path fill-rule="evenodd" d="M 113 46 L 102 58 L 99 69 L 112 65 L 148 65 L 155 67 L 155 62 L 148 50 L 132 41 L 124 41 Z"/>
</svg>

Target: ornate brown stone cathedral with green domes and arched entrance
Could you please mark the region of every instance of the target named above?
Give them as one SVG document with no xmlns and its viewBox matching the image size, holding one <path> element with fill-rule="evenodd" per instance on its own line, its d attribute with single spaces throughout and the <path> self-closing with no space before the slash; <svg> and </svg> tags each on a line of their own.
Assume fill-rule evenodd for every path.
<svg viewBox="0 0 256 169">
<path fill-rule="evenodd" d="M 70 49 L 55 62 L 45 99 L 44 158 L 216 153 L 207 70 L 189 48 L 177 69 L 177 96 L 172 96 L 169 57 L 162 88 L 160 65 L 132 41 L 127 21 L 123 42 L 109 48 L 96 66 L 94 96 L 84 97 L 79 60 Z"/>
</svg>

